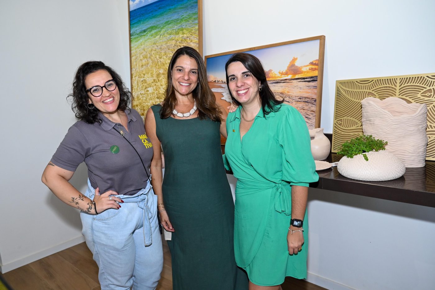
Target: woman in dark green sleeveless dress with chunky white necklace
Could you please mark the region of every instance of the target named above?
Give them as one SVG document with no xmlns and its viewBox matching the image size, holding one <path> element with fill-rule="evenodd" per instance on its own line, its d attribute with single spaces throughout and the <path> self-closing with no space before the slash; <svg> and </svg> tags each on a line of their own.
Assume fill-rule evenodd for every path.
<svg viewBox="0 0 435 290">
<path fill-rule="evenodd" d="M 207 85 L 204 62 L 191 47 L 173 55 L 161 105 L 145 118 L 151 139 L 152 185 L 168 241 L 174 290 L 244 290 L 234 260 L 234 203 L 221 155 L 225 111 Z M 165 157 L 162 183 L 160 146 Z"/>
</svg>

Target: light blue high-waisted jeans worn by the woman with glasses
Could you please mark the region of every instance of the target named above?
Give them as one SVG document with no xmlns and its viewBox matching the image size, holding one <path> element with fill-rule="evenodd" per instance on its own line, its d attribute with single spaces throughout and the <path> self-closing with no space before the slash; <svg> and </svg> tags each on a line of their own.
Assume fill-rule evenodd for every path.
<svg viewBox="0 0 435 290">
<path fill-rule="evenodd" d="M 89 179 L 87 184 L 85 195 L 94 199 Z M 101 290 L 154 290 L 163 268 L 157 196 L 148 181 L 134 196 L 118 197 L 124 201 L 120 209 L 80 213 L 82 233 L 99 268 Z"/>
</svg>

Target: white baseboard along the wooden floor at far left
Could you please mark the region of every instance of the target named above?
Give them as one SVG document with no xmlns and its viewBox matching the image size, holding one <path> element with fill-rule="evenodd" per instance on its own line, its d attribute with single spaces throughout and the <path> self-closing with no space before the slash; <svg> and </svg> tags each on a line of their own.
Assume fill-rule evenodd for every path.
<svg viewBox="0 0 435 290">
<path fill-rule="evenodd" d="M 54 253 L 63 251 L 65 249 L 68 249 L 72 246 L 75 246 L 75 245 L 83 243 L 83 242 L 84 242 L 84 236 L 78 236 L 77 238 L 70 239 L 69 241 L 67 241 L 65 243 L 61 243 L 61 244 L 58 244 L 56 246 L 52 246 L 48 249 L 42 250 L 38 253 L 34 253 L 30 256 L 23 257 L 21 259 L 15 260 L 15 261 L 10 262 L 10 263 L 6 263 L 4 265 L 0 264 L 0 272 L 4 274 L 6 272 L 17 269 L 21 266 L 27 265 L 27 264 L 32 263 L 34 261 L 37 261 L 39 259 L 45 258 L 46 256 L 53 255 Z"/>
</svg>

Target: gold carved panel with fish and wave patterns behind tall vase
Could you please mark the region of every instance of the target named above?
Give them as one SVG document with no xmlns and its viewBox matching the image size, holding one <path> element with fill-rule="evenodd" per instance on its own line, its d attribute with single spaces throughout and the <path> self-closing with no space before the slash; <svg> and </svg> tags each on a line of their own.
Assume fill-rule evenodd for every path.
<svg viewBox="0 0 435 290">
<path fill-rule="evenodd" d="M 398 97 L 408 103 L 426 104 L 428 107 L 426 160 L 435 160 L 435 73 L 337 81 L 332 152 L 338 152 L 341 144 L 363 133 L 361 101 L 368 97 L 381 100 Z"/>
</svg>

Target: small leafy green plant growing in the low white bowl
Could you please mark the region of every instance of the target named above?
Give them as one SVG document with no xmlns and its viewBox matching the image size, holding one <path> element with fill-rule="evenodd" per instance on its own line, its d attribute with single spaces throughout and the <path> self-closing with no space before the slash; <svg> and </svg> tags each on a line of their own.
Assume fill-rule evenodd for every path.
<svg viewBox="0 0 435 290">
<path fill-rule="evenodd" d="M 357 138 L 351 139 L 351 141 L 343 143 L 337 154 L 345 155 L 348 158 L 353 158 L 355 155 L 362 154 L 365 161 L 368 161 L 368 157 L 364 153 L 385 150 L 385 145 L 387 144 L 388 142 L 376 139 L 372 135 L 361 135 Z"/>
</svg>

